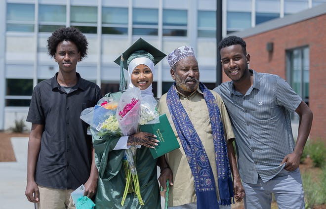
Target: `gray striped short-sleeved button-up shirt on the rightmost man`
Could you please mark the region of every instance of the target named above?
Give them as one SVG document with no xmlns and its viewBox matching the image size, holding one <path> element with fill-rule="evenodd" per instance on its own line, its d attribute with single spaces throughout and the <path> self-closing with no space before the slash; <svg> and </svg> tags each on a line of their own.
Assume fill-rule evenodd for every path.
<svg viewBox="0 0 326 209">
<path fill-rule="evenodd" d="M 214 90 L 230 115 L 241 178 L 256 184 L 258 175 L 266 182 L 285 167 L 280 164 L 295 146 L 290 112 L 302 99 L 281 77 L 249 71 L 253 73 L 253 85 L 245 95 L 234 89 L 232 81 Z"/>
</svg>

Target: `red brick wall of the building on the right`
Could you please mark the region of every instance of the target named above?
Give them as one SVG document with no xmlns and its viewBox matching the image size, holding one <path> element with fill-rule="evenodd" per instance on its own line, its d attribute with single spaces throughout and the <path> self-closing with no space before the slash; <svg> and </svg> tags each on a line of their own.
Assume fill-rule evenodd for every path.
<svg viewBox="0 0 326 209">
<path fill-rule="evenodd" d="M 244 38 L 249 68 L 286 80 L 285 50 L 309 46 L 309 106 L 314 114 L 310 138 L 326 141 L 326 15 Z M 271 54 L 266 43 L 273 42 Z M 229 79 L 223 73 L 223 82 Z"/>
</svg>

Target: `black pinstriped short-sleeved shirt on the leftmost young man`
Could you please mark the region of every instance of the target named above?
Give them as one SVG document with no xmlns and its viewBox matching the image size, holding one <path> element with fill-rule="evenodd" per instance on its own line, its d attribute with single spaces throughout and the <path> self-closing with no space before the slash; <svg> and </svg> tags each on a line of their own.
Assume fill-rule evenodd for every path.
<svg viewBox="0 0 326 209">
<path fill-rule="evenodd" d="M 44 125 L 35 180 L 49 188 L 76 189 L 87 181 L 92 162 L 91 136 L 80 114 L 102 96 L 100 88 L 79 73 L 67 94 L 57 75 L 35 86 L 26 120 Z"/>
</svg>

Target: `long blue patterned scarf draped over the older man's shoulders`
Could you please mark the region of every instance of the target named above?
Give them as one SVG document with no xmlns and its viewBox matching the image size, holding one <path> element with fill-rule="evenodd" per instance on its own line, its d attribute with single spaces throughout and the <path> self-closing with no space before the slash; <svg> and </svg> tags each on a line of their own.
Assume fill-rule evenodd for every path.
<svg viewBox="0 0 326 209">
<path fill-rule="evenodd" d="M 199 87 L 203 92 L 208 107 L 212 128 L 220 202 L 217 201 L 213 171 L 209 165 L 204 146 L 180 102 L 175 83 L 167 92 L 166 104 L 194 176 L 197 209 L 219 209 L 219 205 L 231 205 L 233 197 L 231 171 L 224 139 L 223 123 L 220 119 L 220 110 L 216 99 L 201 82 Z"/>
</svg>

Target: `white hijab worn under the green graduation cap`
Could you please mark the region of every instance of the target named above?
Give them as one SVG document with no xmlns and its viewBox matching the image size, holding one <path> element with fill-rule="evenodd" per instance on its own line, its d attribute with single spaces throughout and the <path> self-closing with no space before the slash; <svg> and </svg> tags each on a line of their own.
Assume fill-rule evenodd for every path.
<svg viewBox="0 0 326 209">
<path fill-rule="evenodd" d="M 134 86 L 131 82 L 131 74 L 133 72 L 133 70 L 138 66 L 138 65 L 146 65 L 147 67 L 149 67 L 152 71 L 153 74 L 153 78 L 154 78 L 154 62 L 152 60 L 150 60 L 147 57 L 138 57 L 135 58 L 133 60 L 131 60 L 131 62 L 128 65 L 128 75 L 129 75 L 129 85 L 128 88 L 135 88 L 136 86 Z M 141 92 L 141 97 L 145 97 L 145 96 L 154 96 L 153 92 L 152 92 L 152 84 L 150 86 L 148 86 L 148 88 L 144 89 L 144 90 L 140 90 Z"/>
</svg>

